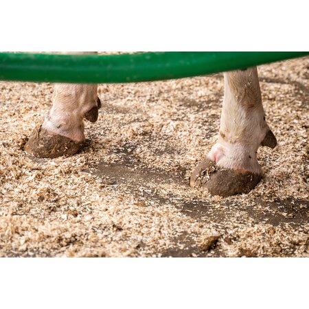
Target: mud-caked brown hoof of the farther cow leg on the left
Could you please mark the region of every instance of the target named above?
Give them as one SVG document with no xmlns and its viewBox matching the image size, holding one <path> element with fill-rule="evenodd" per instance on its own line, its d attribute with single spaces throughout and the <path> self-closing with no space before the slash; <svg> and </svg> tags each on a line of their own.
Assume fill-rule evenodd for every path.
<svg viewBox="0 0 309 309">
<path fill-rule="evenodd" d="M 35 157 L 56 158 L 74 155 L 83 144 L 84 141 L 72 141 L 62 135 L 48 133 L 42 126 L 39 126 L 28 139 L 24 150 Z"/>
</svg>

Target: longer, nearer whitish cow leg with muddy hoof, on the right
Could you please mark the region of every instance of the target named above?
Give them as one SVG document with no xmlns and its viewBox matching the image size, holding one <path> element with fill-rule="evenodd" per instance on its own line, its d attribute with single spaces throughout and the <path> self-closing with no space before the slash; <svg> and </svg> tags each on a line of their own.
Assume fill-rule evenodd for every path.
<svg viewBox="0 0 309 309">
<path fill-rule="evenodd" d="M 247 193 L 262 179 L 256 152 L 274 148 L 275 136 L 266 124 L 256 67 L 224 74 L 225 96 L 218 142 L 191 174 L 190 185 L 210 194 Z"/>
</svg>

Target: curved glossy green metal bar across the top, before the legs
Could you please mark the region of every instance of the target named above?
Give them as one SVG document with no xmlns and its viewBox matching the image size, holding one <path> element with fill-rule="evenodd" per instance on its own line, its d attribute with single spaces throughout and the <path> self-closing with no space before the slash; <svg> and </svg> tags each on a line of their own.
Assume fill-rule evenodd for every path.
<svg viewBox="0 0 309 309">
<path fill-rule="evenodd" d="M 151 52 L 120 55 L 0 53 L 0 80 L 145 82 L 244 69 L 308 54 L 309 52 Z"/>
</svg>

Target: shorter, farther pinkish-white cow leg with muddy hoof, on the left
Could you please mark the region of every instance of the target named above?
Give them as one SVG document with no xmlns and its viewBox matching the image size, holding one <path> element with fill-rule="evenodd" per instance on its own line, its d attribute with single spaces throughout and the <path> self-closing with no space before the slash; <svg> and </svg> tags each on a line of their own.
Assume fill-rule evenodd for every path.
<svg viewBox="0 0 309 309">
<path fill-rule="evenodd" d="M 30 136 L 25 151 L 45 158 L 78 152 L 84 144 L 83 119 L 98 119 L 101 102 L 97 91 L 97 84 L 55 84 L 52 108 Z"/>
</svg>

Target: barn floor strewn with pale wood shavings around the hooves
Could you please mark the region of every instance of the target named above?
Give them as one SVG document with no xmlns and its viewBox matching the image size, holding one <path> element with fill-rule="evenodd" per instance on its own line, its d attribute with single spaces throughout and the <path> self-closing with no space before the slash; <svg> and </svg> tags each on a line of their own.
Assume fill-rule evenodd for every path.
<svg viewBox="0 0 309 309">
<path fill-rule="evenodd" d="M 216 140 L 222 74 L 102 84 L 78 155 L 36 159 L 23 145 L 52 84 L 0 82 L 0 256 L 309 257 L 309 58 L 259 67 L 274 150 L 247 195 L 188 185 Z"/>
</svg>

